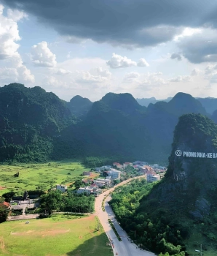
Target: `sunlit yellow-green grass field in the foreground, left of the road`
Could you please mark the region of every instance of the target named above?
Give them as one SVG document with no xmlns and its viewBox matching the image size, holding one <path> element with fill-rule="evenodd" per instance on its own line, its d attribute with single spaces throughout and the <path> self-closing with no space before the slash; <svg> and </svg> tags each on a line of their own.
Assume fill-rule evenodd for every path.
<svg viewBox="0 0 217 256">
<path fill-rule="evenodd" d="M 108 238 L 97 219 L 56 215 L 47 219 L 4 222 L 0 225 L 1 256 L 112 256 Z"/>
</svg>

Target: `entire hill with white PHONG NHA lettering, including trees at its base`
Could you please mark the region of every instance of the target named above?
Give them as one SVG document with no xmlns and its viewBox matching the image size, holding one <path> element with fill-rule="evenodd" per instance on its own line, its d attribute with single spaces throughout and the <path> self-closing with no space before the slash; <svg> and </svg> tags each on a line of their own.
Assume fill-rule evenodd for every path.
<svg viewBox="0 0 217 256">
<path fill-rule="evenodd" d="M 217 126 L 208 117 L 179 118 L 165 178 L 141 199 L 134 216 L 125 219 L 146 248 L 175 255 L 181 245 L 193 255 L 203 244 L 216 252 L 216 138 Z"/>
</svg>

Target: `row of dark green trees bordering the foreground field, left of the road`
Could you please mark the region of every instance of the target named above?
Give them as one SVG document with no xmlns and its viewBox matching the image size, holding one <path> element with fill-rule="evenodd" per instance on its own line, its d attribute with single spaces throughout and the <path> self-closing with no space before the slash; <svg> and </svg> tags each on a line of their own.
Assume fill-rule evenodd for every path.
<svg viewBox="0 0 217 256">
<path fill-rule="evenodd" d="M 77 195 L 68 192 L 63 195 L 60 190 L 52 190 L 41 196 L 41 208 L 46 214 L 52 211 L 71 211 L 76 213 L 87 213 L 94 211 L 95 197 L 93 195 Z"/>
</svg>

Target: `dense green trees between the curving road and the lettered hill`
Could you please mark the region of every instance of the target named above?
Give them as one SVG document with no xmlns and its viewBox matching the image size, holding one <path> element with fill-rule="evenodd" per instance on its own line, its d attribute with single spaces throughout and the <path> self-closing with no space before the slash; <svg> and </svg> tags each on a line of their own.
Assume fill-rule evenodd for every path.
<svg viewBox="0 0 217 256">
<path fill-rule="evenodd" d="M 111 207 L 130 238 L 141 248 L 161 255 L 184 256 L 186 248 L 183 241 L 187 230 L 181 225 L 169 225 L 170 220 L 163 217 L 162 211 L 165 210 L 157 209 L 157 206 L 155 218 L 149 211 L 140 211 L 141 198 L 148 195 L 153 187 L 154 183 L 147 184 L 145 179 L 132 181 L 112 194 Z"/>
</svg>

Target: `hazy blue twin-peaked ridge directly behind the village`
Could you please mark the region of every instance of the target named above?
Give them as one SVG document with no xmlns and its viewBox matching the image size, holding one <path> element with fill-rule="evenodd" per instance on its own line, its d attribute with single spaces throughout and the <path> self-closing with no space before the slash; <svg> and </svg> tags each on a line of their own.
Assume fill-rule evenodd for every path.
<svg viewBox="0 0 217 256">
<path fill-rule="evenodd" d="M 201 103 L 189 94 L 179 93 L 168 103 L 157 102 L 146 108 L 131 94 L 108 93 L 92 104 L 76 127 L 64 129 L 56 148 L 67 148 L 61 152 L 68 157 L 74 155 L 77 145 L 78 151 L 87 156 L 143 159 L 167 165 L 175 125 L 185 113 L 207 115 Z"/>
</svg>

